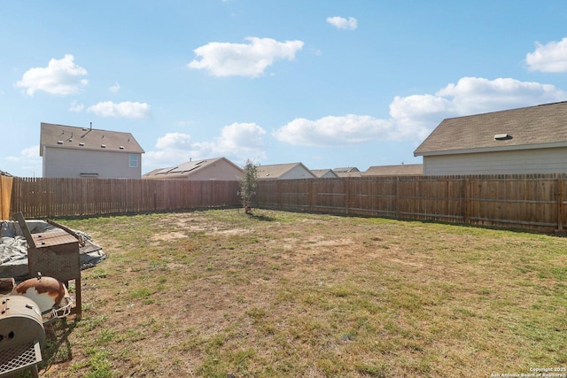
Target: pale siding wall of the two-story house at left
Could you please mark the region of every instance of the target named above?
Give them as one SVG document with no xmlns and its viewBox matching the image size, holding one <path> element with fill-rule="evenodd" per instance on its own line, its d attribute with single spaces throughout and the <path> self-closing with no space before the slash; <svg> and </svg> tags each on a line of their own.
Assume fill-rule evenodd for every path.
<svg viewBox="0 0 567 378">
<path fill-rule="evenodd" d="M 130 152 L 74 150 L 45 147 L 43 177 L 82 177 L 97 174 L 101 179 L 139 179 L 142 176 L 142 156 L 137 167 L 129 167 Z"/>
</svg>

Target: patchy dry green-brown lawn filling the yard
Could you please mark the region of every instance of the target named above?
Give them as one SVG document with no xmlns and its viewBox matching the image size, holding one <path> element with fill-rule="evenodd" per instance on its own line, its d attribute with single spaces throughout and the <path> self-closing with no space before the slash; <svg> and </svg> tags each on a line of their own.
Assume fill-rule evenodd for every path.
<svg viewBox="0 0 567 378">
<path fill-rule="evenodd" d="M 491 376 L 567 366 L 567 239 L 256 210 L 59 220 L 108 254 L 49 377 Z"/>
</svg>

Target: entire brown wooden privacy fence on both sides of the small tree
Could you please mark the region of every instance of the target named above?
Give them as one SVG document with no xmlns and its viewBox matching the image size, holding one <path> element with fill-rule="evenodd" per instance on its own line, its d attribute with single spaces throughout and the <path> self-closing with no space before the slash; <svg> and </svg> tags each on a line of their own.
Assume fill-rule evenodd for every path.
<svg viewBox="0 0 567 378">
<path fill-rule="evenodd" d="M 10 179 L 10 180 L 5 180 Z M 400 220 L 563 232 L 567 174 L 258 181 L 253 205 Z M 4 198 L 12 183 L 12 200 Z M 3 178 L 3 219 L 239 205 L 238 181 Z M 4 211 L 4 210 L 3 210 Z"/>
</svg>

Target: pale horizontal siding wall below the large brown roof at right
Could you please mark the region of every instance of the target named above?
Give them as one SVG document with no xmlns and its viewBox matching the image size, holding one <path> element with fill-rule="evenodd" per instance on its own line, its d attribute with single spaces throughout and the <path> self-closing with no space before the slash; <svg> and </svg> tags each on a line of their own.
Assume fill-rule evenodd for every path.
<svg viewBox="0 0 567 378">
<path fill-rule="evenodd" d="M 423 157 L 423 174 L 557 174 L 567 172 L 567 148 Z"/>
</svg>

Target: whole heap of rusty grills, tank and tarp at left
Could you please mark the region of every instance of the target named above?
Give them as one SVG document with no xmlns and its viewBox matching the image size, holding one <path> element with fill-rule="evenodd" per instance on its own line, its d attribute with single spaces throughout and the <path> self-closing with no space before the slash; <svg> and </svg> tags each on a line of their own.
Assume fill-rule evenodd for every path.
<svg viewBox="0 0 567 378">
<path fill-rule="evenodd" d="M 2 297 L 0 376 L 30 368 L 38 376 L 43 326 L 74 313 L 81 320 L 81 270 L 105 259 L 89 235 L 52 220 L 0 221 L 0 280 L 15 286 Z M 42 274 L 43 272 L 43 274 Z M 74 298 L 67 286 L 74 281 Z M 73 290 L 72 290 L 73 291 Z"/>
</svg>

